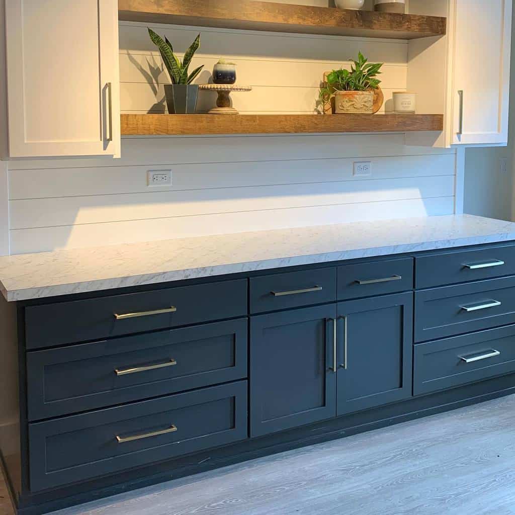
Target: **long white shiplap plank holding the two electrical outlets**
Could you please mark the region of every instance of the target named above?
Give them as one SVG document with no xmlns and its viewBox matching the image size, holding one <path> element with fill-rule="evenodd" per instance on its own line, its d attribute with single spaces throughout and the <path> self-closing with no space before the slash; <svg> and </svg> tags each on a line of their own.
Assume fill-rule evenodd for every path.
<svg viewBox="0 0 515 515">
<path fill-rule="evenodd" d="M 164 164 L 11 170 L 11 200 L 182 191 L 203 188 L 285 185 L 314 182 L 359 181 L 424 176 L 454 176 L 453 155 L 367 158 L 372 175 L 353 176 L 354 159 L 311 159 L 250 163 Z M 171 170 L 171 186 L 148 187 L 149 170 Z"/>
</svg>

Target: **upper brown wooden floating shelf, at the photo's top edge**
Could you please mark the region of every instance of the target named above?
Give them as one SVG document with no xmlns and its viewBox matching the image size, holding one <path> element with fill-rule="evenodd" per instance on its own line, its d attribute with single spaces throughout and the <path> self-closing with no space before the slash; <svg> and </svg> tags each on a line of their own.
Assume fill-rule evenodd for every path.
<svg viewBox="0 0 515 515">
<path fill-rule="evenodd" d="M 256 0 L 118 0 L 120 20 L 337 36 L 417 39 L 443 36 L 437 16 L 342 10 Z"/>
</svg>

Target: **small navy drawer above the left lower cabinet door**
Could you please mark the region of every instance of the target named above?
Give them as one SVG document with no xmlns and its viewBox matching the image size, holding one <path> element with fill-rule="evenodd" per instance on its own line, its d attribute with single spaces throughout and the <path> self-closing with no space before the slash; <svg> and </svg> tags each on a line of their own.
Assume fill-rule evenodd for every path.
<svg viewBox="0 0 515 515">
<path fill-rule="evenodd" d="M 284 310 L 336 300 L 336 268 L 276 273 L 250 279 L 250 312 Z"/>
</svg>

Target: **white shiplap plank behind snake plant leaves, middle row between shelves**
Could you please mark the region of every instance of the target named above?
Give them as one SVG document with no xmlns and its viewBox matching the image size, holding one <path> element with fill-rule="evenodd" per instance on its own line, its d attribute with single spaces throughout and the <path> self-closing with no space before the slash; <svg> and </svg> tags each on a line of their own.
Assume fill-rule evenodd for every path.
<svg viewBox="0 0 515 515">
<path fill-rule="evenodd" d="M 178 54 L 182 57 L 182 54 Z M 201 84 L 208 81 L 213 66 L 218 57 L 197 54 L 196 58 L 204 65 L 204 70 L 195 79 Z M 159 52 L 145 54 L 123 50 L 119 55 L 120 80 L 122 82 L 142 82 L 145 84 L 167 84 L 170 78 L 164 68 Z M 239 83 L 252 86 L 278 86 L 278 87 L 312 87 L 318 88 L 323 74 L 341 67 L 349 68 L 348 60 L 327 61 L 270 61 L 265 59 L 232 59 L 236 64 Z M 384 64 L 381 68 L 381 87 L 389 89 L 406 89 L 407 65 Z M 208 74 L 208 76 L 206 75 Z"/>
</svg>

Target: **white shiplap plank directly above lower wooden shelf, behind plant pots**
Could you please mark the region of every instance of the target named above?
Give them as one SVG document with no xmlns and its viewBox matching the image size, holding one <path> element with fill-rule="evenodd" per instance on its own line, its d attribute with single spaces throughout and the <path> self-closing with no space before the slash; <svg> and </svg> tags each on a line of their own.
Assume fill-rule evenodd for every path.
<svg viewBox="0 0 515 515">
<path fill-rule="evenodd" d="M 397 88 L 403 91 L 403 88 Z M 405 88 L 404 88 L 405 89 Z M 385 104 L 391 100 L 393 89 L 383 89 Z M 231 94 L 232 105 L 241 113 L 315 113 L 317 109 L 319 88 L 312 87 L 278 87 L 254 86 L 249 92 Z M 197 103 L 198 113 L 207 113 L 216 107 L 216 93 L 200 91 Z M 120 84 L 122 112 L 167 112 L 164 85 L 142 82 L 122 82 Z M 383 104 L 380 112 L 385 111 Z M 341 115 L 345 116 L 345 115 Z"/>
</svg>

